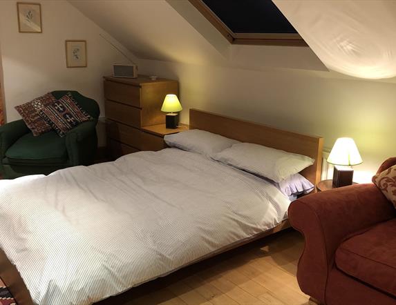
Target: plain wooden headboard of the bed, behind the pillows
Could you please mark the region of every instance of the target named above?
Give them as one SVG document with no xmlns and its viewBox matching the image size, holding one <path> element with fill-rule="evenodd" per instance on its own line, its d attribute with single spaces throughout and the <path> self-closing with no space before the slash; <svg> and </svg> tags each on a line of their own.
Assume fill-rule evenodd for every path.
<svg viewBox="0 0 396 305">
<path fill-rule="evenodd" d="M 302 135 L 262 124 L 190 109 L 190 129 L 202 129 L 242 142 L 260 144 L 315 159 L 301 172 L 313 184 L 321 179 L 323 138 Z"/>
</svg>

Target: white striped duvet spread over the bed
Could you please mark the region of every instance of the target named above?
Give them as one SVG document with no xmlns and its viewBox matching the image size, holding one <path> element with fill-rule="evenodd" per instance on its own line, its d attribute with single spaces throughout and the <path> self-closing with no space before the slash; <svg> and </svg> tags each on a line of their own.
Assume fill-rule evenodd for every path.
<svg viewBox="0 0 396 305">
<path fill-rule="evenodd" d="M 0 246 L 36 304 L 91 304 L 279 224 L 267 181 L 176 148 L 0 181 Z"/>
</svg>

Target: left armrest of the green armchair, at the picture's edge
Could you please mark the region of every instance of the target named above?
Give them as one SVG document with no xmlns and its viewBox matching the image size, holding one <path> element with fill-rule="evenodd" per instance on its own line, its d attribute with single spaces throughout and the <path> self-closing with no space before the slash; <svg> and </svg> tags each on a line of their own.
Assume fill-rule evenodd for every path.
<svg viewBox="0 0 396 305">
<path fill-rule="evenodd" d="M 18 121 L 12 121 L 10 123 L 4 124 L 0 126 L 0 157 L 6 155 L 6 151 L 12 144 L 17 141 L 23 135 L 30 132 L 28 126 L 26 126 L 25 122 L 22 119 Z"/>
</svg>

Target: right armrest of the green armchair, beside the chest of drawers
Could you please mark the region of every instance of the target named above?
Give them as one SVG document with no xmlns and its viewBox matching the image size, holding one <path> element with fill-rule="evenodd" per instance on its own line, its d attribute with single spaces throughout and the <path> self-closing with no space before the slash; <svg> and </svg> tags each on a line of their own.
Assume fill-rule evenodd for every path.
<svg viewBox="0 0 396 305">
<path fill-rule="evenodd" d="M 97 149 L 97 120 L 86 121 L 66 133 L 71 166 L 92 164 Z"/>
</svg>

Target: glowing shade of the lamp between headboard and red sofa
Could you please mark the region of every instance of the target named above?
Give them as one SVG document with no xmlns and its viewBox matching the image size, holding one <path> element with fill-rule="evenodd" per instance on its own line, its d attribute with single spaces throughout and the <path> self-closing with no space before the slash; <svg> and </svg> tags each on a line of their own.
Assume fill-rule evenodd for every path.
<svg viewBox="0 0 396 305">
<path fill-rule="evenodd" d="M 359 150 L 352 138 L 339 138 L 328 156 L 328 163 L 342 166 L 361 164 Z"/>
</svg>

